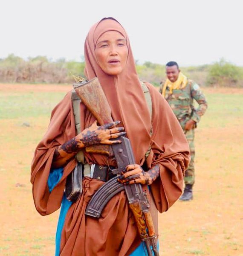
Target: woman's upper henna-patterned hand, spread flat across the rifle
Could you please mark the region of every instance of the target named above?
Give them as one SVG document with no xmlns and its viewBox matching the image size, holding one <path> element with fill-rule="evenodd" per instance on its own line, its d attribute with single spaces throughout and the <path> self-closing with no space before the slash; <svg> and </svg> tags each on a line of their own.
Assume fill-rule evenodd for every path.
<svg viewBox="0 0 243 256">
<path fill-rule="evenodd" d="M 120 121 L 111 122 L 105 125 L 98 126 L 97 121 L 82 131 L 75 137 L 76 142 L 80 148 L 84 148 L 91 145 L 113 145 L 121 143 L 120 140 L 111 140 L 116 139 L 126 132 L 124 127 L 116 127 L 119 125 Z"/>
</svg>

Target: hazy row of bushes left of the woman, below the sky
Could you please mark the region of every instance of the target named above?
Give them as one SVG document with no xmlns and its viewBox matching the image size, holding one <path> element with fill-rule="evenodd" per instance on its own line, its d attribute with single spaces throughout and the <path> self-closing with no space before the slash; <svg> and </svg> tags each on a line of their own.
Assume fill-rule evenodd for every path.
<svg viewBox="0 0 243 256">
<path fill-rule="evenodd" d="M 50 61 L 46 56 L 29 57 L 27 61 L 10 54 L 0 59 L 1 82 L 72 83 L 75 76 L 84 76 L 84 62 Z"/>
</svg>

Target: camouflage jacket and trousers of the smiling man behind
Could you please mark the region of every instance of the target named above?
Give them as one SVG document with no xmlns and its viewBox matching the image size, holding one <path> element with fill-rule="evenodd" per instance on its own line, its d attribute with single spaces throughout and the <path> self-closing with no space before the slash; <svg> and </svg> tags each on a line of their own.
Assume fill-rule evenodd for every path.
<svg viewBox="0 0 243 256">
<path fill-rule="evenodd" d="M 160 93 L 162 93 L 164 82 L 160 88 Z M 189 80 L 187 85 L 183 89 L 175 89 L 172 94 L 169 93 L 168 87 L 165 91 L 165 99 L 171 106 L 176 118 L 178 119 L 184 133 L 188 140 L 191 162 L 188 169 L 185 172 L 184 181 L 185 184 L 194 184 L 195 180 L 195 169 L 194 169 L 194 157 L 195 157 L 195 146 L 194 146 L 194 128 L 197 127 L 197 123 L 200 121 L 200 117 L 205 113 L 208 105 L 198 84 L 194 81 Z M 198 108 L 195 109 L 193 105 L 194 99 L 199 104 Z M 185 131 L 185 124 L 188 120 L 194 120 L 196 125 L 190 131 Z"/>
</svg>

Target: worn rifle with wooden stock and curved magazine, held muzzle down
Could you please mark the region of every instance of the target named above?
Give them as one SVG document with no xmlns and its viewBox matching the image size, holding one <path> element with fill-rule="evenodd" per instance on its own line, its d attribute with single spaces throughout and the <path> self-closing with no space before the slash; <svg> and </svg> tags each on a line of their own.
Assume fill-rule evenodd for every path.
<svg viewBox="0 0 243 256">
<path fill-rule="evenodd" d="M 113 122 L 109 103 L 97 78 L 87 82 L 75 83 L 73 87 L 100 125 Z M 85 214 L 99 218 L 110 198 L 118 192 L 125 190 L 129 208 L 133 212 L 140 238 L 142 241 L 145 241 L 148 255 L 152 256 L 154 253 L 155 256 L 159 256 L 157 236 L 153 227 L 146 191 L 143 191 L 140 183 L 124 186 L 117 181 L 127 165 L 135 164 L 130 140 L 125 137 L 119 137 L 119 140 L 122 141 L 121 144 L 111 146 L 113 151 L 111 155 L 114 155 L 117 162 L 117 169 L 112 170 L 116 176 L 104 183 L 95 192 L 87 205 Z M 95 152 L 95 147 L 93 151 Z"/>
</svg>

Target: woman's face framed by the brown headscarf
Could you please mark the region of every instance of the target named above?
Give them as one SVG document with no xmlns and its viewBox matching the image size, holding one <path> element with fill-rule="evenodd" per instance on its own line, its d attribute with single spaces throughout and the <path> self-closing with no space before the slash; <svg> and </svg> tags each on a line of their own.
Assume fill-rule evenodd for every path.
<svg viewBox="0 0 243 256">
<path fill-rule="evenodd" d="M 95 56 L 98 65 L 110 76 L 122 73 L 127 62 L 127 41 L 117 31 L 107 31 L 98 39 Z"/>
</svg>

